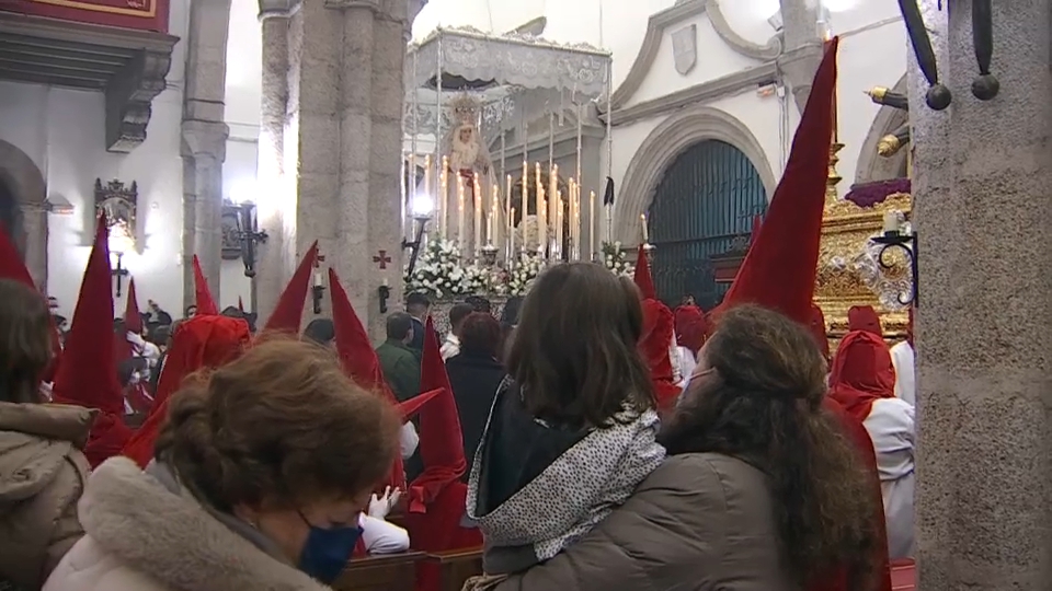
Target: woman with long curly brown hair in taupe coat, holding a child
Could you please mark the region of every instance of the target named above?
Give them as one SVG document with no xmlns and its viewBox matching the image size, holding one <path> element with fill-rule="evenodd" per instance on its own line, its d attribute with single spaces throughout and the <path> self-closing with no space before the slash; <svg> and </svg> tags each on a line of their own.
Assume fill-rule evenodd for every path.
<svg viewBox="0 0 1052 591">
<path fill-rule="evenodd" d="M 587 536 L 496 589 L 874 589 L 872 483 L 825 393 L 807 328 L 725 312 L 662 429 L 668 459 Z"/>
</svg>

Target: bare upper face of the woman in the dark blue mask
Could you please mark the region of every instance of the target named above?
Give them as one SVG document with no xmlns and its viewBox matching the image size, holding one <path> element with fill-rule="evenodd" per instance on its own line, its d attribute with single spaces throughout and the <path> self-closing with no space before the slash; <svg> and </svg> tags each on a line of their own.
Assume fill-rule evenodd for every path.
<svg viewBox="0 0 1052 591">
<path fill-rule="evenodd" d="M 313 547 L 317 542 L 312 541 L 312 531 L 327 532 L 321 536 L 331 537 L 329 534 L 341 530 L 357 529 L 359 515 L 368 509 L 370 495 L 370 490 L 365 490 L 355 498 L 321 499 L 295 509 L 259 510 L 239 507 L 235 513 L 276 543 L 291 564 L 320 579 L 321 573 L 312 572 L 311 565 L 305 564 L 318 561 L 319 548 Z M 356 541 L 356 536 L 354 540 Z M 350 549 L 353 549 L 353 546 Z M 350 551 L 346 556 L 350 556 Z"/>
</svg>

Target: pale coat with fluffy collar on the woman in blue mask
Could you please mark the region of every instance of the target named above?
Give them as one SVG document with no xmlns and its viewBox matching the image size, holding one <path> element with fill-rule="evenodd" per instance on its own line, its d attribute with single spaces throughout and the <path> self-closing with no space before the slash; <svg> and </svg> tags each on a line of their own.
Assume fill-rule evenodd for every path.
<svg viewBox="0 0 1052 591">
<path fill-rule="evenodd" d="M 44 591 L 328 591 L 229 529 L 185 489 L 126 457 L 95 468 L 80 501 L 87 535 Z"/>
</svg>

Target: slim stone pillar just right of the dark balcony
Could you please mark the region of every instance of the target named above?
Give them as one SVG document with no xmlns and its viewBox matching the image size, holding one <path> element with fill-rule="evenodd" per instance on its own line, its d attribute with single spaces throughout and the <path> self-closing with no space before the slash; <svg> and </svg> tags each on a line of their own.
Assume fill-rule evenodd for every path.
<svg viewBox="0 0 1052 591">
<path fill-rule="evenodd" d="M 194 302 L 193 255 L 219 301 L 227 33 L 231 0 L 192 2 L 183 90 L 183 303 Z"/>
</svg>

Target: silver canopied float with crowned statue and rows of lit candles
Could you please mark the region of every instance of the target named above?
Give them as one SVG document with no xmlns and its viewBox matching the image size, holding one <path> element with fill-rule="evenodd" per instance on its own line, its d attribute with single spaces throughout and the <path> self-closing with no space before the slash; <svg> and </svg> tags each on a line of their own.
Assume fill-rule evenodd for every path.
<svg viewBox="0 0 1052 591">
<path fill-rule="evenodd" d="M 489 266 L 593 258 L 596 215 L 605 210 L 609 228 L 611 211 L 596 202 L 599 159 L 583 162 L 582 143 L 586 127 L 604 125 L 596 105 L 613 93 L 610 53 L 438 28 L 410 45 L 405 69 L 403 219 L 418 236 L 410 265 L 428 222 L 431 237 Z M 605 126 L 609 176 L 609 117 Z M 574 159 L 560 170 L 557 144 L 574 136 Z"/>
</svg>

